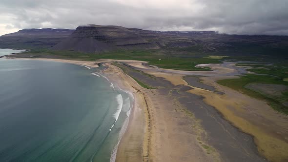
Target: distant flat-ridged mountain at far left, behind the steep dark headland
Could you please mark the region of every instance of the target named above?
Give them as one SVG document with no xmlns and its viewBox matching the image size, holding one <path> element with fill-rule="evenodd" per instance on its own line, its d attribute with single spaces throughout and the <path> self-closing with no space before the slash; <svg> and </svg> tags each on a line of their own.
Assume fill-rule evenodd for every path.
<svg viewBox="0 0 288 162">
<path fill-rule="evenodd" d="M 50 48 L 74 32 L 70 29 L 23 29 L 0 37 L 0 48 Z"/>
</svg>

